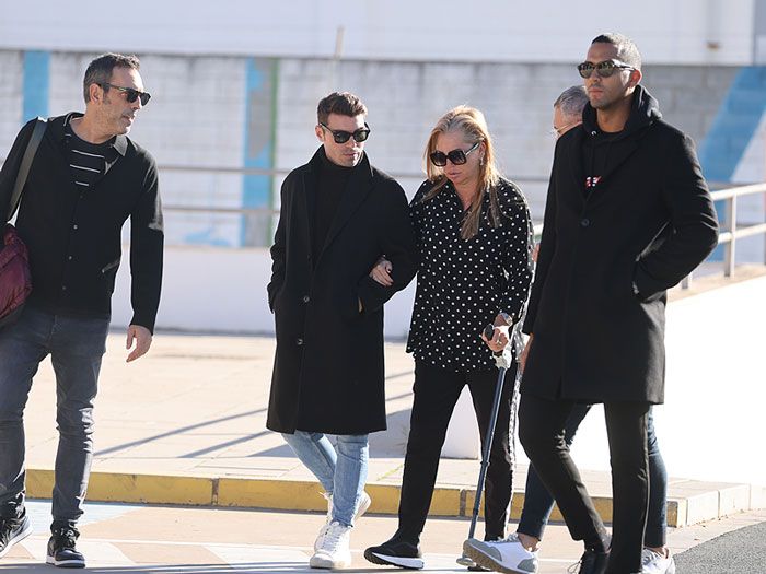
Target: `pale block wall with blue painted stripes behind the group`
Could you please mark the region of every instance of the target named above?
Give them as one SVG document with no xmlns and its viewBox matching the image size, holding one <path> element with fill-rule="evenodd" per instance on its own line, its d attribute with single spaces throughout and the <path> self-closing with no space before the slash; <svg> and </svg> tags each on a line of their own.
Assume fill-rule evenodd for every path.
<svg viewBox="0 0 766 574">
<path fill-rule="evenodd" d="M 40 56 L 0 49 L 0 157 L 25 114 L 82 109 L 81 78 L 94 54 Z M 159 325 L 248 332 L 272 328 L 263 300 L 267 255 L 253 249 L 268 246 L 272 222 L 239 214 L 189 214 L 172 209 L 174 206 L 278 207 L 281 176 L 243 174 L 241 169 L 265 167 L 286 173 L 304 163 L 317 147 L 313 133 L 316 102 L 337 87 L 351 90 L 365 101 L 372 128 L 367 148 L 370 156 L 390 173 L 408 174 L 399 180 L 410 195 L 422 178 L 422 148 L 437 118 L 460 103 L 481 108 L 503 172 L 520 183 L 533 218 L 541 220 L 553 153 L 548 136 L 552 103 L 562 89 L 579 81 L 574 60 L 334 62 L 150 54 L 142 62 L 144 84 L 153 95 L 131 137 L 161 166 L 167 166 L 162 169 L 161 186 L 170 248 Z M 665 119 L 697 140 L 711 179 L 748 183 L 765 178 L 766 69 L 648 65 L 643 71 L 645 84 L 660 99 Z M 47 92 L 45 97 L 39 97 L 40 91 Z M 212 171 L 193 171 L 200 167 Z M 744 204 L 742 223 L 763 221 L 762 198 Z M 738 258 L 763 261 L 763 239 L 743 244 Z M 125 277 L 125 269 L 120 273 Z M 406 297 L 401 295 L 397 301 L 402 304 L 392 304 L 388 336 L 406 332 Z M 119 324 L 130 314 L 123 307 L 127 298 L 117 300 L 115 320 Z M 201 302 L 214 304 L 208 309 Z"/>
</svg>

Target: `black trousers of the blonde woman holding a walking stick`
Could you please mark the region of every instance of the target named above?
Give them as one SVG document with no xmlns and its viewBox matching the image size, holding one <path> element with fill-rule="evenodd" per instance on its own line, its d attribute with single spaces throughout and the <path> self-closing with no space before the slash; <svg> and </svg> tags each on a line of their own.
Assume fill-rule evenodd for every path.
<svg viewBox="0 0 766 574">
<path fill-rule="evenodd" d="M 504 538 L 511 502 L 512 467 L 510 417 L 515 365 L 508 370 L 495 426 L 492 449 L 485 481 L 485 539 Z M 418 540 L 431 506 L 439 457 L 452 411 L 465 385 L 468 385 L 476 419 L 485 444 L 492 411 L 498 370 L 454 373 L 415 362 L 415 402 L 410 417 L 407 454 L 399 500 L 399 534 Z M 478 468 L 477 468 L 478 471 Z"/>
</svg>

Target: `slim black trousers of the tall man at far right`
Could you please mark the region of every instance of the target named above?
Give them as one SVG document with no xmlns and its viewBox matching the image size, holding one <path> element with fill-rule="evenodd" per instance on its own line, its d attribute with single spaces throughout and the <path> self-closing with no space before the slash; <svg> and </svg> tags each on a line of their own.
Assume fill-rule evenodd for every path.
<svg viewBox="0 0 766 574">
<path fill-rule="evenodd" d="M 585 490 L 565 441 L 566 421 L 576 403 L 529 393 L 519 405 L 519 438 L 545 487 L 554 495 L 574 540 L 600 549 L 606 529 Z M 648 402 L 604 405 L 612 464 L 613 522 L 608 574 L 641 571 L 649 503 Z"/>
</svg>

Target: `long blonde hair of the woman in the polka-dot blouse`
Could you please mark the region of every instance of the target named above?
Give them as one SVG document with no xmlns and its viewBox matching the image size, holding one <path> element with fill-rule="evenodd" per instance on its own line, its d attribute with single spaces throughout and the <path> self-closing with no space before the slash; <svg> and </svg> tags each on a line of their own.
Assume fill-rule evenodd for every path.
<svg viewBox="0 0 766 574">
<path fill-rule="evenodd" d="M 471 106 L 457 106 L 444 114 L 431 130 L 426 144 L 423 160 L 426 162 L 426 175 L 429 181 L 436 184 L 423 197 L 423 201 L 436 197 L 446 185 L 448 178 L 444 169 L 430 161 L 429 155 L 437 150 L 437 138 L 440 133 L 461 130 L 467 143 L 474 144 L 484 142 L 484 161 L 479 165 L 479 178 L 476 189 L 476 197 L 468 208 L 468 212 L 463 218 L 461 226 L 461 237 L 471 239 L 478 233 L 479 221 L 481 219 L 481 203 L 484 195 L 489 192 L 489 220 L 494 227 L 500 225 L 500 208 L 497 198 L 497 185 L 500 181 L 500 173 L 495 163 L 495 149 L 489 137 L 487 120 L 484 114 Z"/>
</svg>

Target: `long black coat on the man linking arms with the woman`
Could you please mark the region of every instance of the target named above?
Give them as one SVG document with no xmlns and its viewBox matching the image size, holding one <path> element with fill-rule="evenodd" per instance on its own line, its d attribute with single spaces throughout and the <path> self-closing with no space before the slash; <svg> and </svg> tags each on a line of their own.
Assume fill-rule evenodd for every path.
<svg viewBox="0 0 766 574">
<path fill-rule="evenodd" d="M 367 434 L 386 427 L 383 304 L 415 276 L 415 238 L 404 190 L 364 154 L 324 246 L 312 253 L 323 153 L 320 148 L 282 184 L 268 285 L 277 352 L 266 425 L 282 433 Z M 393 263 L 390 288 L 369 277 L 381 255 Z"/>
</svg>

